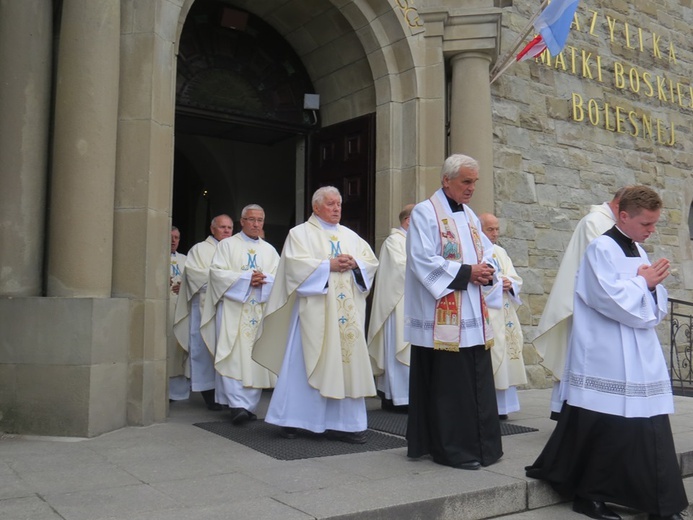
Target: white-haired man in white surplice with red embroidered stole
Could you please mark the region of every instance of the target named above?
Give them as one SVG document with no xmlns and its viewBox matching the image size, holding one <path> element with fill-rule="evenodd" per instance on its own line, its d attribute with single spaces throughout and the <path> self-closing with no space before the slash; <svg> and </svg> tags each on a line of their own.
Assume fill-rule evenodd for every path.
<svg viewBox="0 0 693 520">
<path fill-rule="evenodd" d="M 493 332 L 481 292 L 493 283 L 493 248 L 467 205 L 478 179 L 471 157 L 445 160 L 442 187 L 411 214 L 404 289 L 407 454 L 470 470 L 503 455 L 488 350 Z"/>
</svg>

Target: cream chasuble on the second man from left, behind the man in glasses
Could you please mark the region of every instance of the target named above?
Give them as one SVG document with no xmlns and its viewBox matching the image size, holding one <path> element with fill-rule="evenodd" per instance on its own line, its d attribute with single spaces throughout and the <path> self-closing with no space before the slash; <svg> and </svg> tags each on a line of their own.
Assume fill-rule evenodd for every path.
<svg viewBox="0 0 693 520">
<path fill-rule="evenodd" d="M 209 265 L 212 263 L 218 241 L 208 236 L 204 242 L 195 244 L 185 259 L 183 281 L 176 302 L 176 314 L 173 321 L 173 332 L 181 347 L 189 352 L 190 342 L 190 312 L 193 296 L 200 293 L 200 314 L 204 310 L 204 292 L 207 290 Z"/>
</svg>

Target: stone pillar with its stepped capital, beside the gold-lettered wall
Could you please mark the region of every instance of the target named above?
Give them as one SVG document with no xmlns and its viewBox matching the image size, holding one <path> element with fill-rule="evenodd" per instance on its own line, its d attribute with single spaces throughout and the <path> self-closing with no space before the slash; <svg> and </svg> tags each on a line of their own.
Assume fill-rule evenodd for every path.
<svg viewBox="0 0 693 520">
<path fill-rule="evenodd" d="M 479 161 L 479 182 L 471 202 L 477 213 L 494 211 L 489 71 L 500 50 L 501 9 L 497 5 L 479 1 L 469 8 L 419 9 L 426 38 L 436 42 L 452 70 L 447 153 L 464 153 Z"/>
</svg>

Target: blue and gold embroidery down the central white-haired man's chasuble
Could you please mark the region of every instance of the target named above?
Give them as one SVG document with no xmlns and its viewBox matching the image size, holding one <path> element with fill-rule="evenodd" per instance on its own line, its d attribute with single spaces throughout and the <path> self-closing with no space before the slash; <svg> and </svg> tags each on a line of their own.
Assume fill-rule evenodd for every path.
<svg viewBox="0 0 693 520">
<path fill-rule="evenodd" d="M 337 258 L 341 254 L 342 246 L 339 237 L 331 235 L 329 258 Z M 351 356 L 359 334 L 363 335 L 358 326 L 352 278 L 353 274 L 351 271 L 330 273 L 330 282 L 334 283 L 334 294 L 337 299 L 339 339 L 342 346 L 342 363 L 345 365 L 351 363 Z"/>
</svg>

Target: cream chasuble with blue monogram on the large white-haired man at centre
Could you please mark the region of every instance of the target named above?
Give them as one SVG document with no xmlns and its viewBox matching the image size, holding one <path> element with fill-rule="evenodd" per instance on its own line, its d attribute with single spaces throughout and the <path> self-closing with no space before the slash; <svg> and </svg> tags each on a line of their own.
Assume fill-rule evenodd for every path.
<svg viewBox="0 0 693 520">
<path fill-rule="evenodd" d="M 297 294 L 322 262 L 342 253 L 356 259 L 365 289 L 358 287 L 353 272 L 330 272 L 323 294 Z M 292 309 L 297 304 L 310 386 L 331 399 L 375 395 L 364 323 L 366 296 L 377 267 L 378 260 L 368 243 L 344 226 L 323 229 L 312 215 L 294 227 L 284 244 L 253 359 L 279 373 Z"/>
</svg>

